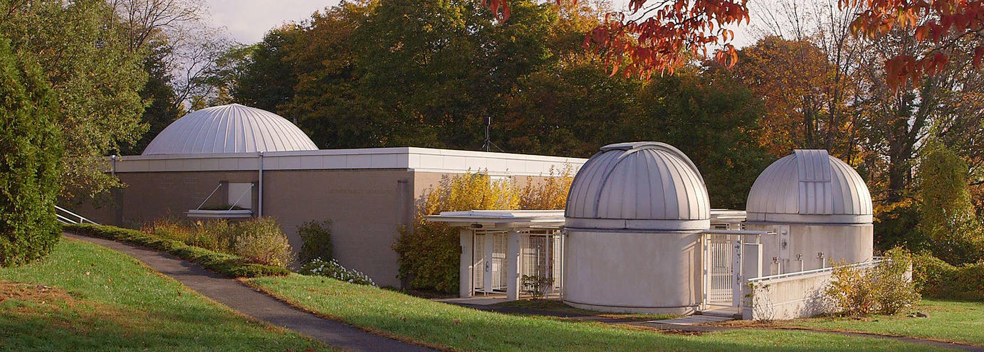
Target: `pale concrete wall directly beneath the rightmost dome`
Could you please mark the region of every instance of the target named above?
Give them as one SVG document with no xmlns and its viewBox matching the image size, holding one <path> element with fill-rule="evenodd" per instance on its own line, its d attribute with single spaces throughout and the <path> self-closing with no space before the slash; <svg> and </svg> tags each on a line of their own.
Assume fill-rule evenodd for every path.
<svg viewBox="0 0 984 352">
<path fill-rule="evenodd" d="M 781 232 L 788 229 L 787 250 L 781 247 Z M 783 224 L 746 223 L 753 231 L 774 231 L 763 235 L 764 274 L 812 270 L 830 266 L 830 261 L 848 264 L 871 261 L 874 256 L 872 224 Z M 819 254 L 823 253 L 821 259 Z M 802 255 L 802 261 L 797 260 Z M 778 258 L 779 267 L 772 262 Z"/>
</svg>

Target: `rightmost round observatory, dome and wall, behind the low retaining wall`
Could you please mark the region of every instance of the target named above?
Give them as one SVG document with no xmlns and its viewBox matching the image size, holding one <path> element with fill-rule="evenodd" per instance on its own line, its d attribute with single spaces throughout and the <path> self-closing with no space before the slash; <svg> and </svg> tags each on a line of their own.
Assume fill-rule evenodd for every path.
<svg viewBox="0 0 984 352">
<path fill-rule="evenodd" d="M 795 150 L 766 168 L 752 185 L 749 230 L 763 240 L 767 273 L 870 261 L 874 252 L 868 186 L 827 150 Z"/>
</svg>

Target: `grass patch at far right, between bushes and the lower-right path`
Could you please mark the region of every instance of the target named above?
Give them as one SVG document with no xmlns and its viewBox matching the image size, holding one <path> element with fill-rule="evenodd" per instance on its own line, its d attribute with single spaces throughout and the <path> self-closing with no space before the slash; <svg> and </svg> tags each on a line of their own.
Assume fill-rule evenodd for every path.
<svg viewBox="0 0 984 352">
<path fill-rule="evenodd" d="M 909 312 L 924 312 L 930 317 L 907 318 Z M 811 318 L 769 325 L 874 332 L 984 346 L 984 302 L 926 299 L 894 316 Z"/>
</svg>

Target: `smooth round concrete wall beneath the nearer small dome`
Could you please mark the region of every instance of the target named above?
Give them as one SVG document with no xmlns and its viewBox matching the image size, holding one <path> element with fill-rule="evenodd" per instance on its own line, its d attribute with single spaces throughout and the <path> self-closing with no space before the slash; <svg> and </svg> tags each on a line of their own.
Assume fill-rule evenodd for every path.
<svg viewBox="0 0 984 352">
<path fill-rule="evenodd" d="M 700 238 L 570 230 L 564 303 L 604 312 L 694 313 L 702 295 Z"/>
</svg>

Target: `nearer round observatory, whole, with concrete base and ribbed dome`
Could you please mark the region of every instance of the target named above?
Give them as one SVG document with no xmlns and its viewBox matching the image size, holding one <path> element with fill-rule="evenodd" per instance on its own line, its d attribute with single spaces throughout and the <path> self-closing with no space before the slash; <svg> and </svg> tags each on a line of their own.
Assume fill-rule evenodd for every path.
<svg viewBox="0 0 984 352">
<path fill-rule="evenodd" d="M 601 147 L 575 177 L 564 216 L 564 303 L 612 312 L 698 308 L 710 201 L 682 151 L 649 142 Z"/>
</svg>

